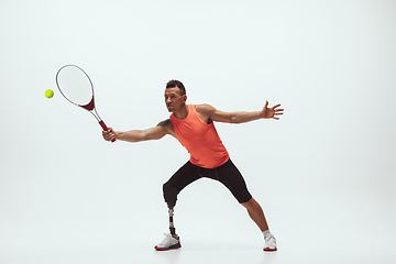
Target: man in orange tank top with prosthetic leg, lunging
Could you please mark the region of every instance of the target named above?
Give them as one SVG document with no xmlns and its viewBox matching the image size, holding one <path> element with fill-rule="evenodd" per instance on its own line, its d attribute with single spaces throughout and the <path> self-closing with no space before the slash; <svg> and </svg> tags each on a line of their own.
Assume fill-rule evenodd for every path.
<svg viewBox="0 0 396 264">
<path fill-rule="evenodd" d="M 169 134 L 176 138 L 190 153 L 189 162 L 182 166 L 163 186 L 164 199 L 169 212 L 170 233 L 165 234 L 164 241 L 155 249 L 167 251 L 182 246 L 173 222 L 177 195 L 193 182 L 201 177 L 209 177 L 223 184 L 248 209 L 249 216 L 264 234 L 264 251 L 276 251 L 276 240 L 270 232 L 264 212 L 249 193 L 241 173 L 231 162 L 213 122 L 244 123 L 258 119 L 278 120 L 278 116 L 284 111 L 278 109 L 280 105 L 268 108 L 268 101 L 266 101 L 262 111 L 223 112 L 209 105 L 186 105 L 186 101 L 184 85 L 178 80 L 170 80 L 165 89 L 165 103 L 168 111 L 172 112 L 169 119 L 146 130 L 118 132 L 109 128 L 108 131 L 102 132 L 107 141 L 117 139 L 128 142 L 160 140 Z"/>
</svg>

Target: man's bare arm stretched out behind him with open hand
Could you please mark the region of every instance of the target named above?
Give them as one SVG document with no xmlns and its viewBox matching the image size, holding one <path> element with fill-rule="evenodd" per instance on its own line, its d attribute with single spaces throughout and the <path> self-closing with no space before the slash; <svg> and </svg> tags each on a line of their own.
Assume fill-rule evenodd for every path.
<svg viewBox="0 0 396 264">
<path fill-rule="evenodd" d="M 278 107 L 280 107 L 280 105 L 268 108 L 268 101 L 266 101 L 262 111 L 223 112 L 209 105 L 200 106 L 202 113 L 205 113 L 210 120 L 226 123 L 245 123 L 258 119 L 279 120 L 278 116 L 283 114 L 284 109 L 279 109 Z"/>
</svg>

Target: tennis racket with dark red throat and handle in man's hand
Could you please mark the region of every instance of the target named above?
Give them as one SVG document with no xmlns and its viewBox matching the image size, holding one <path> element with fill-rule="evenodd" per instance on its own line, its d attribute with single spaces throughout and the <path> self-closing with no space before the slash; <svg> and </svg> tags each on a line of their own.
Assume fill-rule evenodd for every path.
<svg viewBox="0 0 396 264">
<path fill-rule="evenodd" d="M 88 110 L 107 131 L 108 127 L 95 109 L 94 85 L 89 76 L 76 65 L 63 66 L 56 74 L 56 85 L 61 94 L 73 105 Z M 114 142 L 112 139 L 111 142 Z"/>
</svg>

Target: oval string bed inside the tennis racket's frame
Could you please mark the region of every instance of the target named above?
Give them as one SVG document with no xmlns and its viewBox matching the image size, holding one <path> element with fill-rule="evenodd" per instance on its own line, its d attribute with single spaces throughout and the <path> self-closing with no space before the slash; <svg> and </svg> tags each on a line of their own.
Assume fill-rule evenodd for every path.
<svg viewBox="0 0 396 264">
<path fill-rule="evenodd" d="M 58 72 L 57 82 L 67 100 L 86 106 L 94 98 L 92 84 L 88 76 L 76 66 L 66 66 Z"/>
</svg>

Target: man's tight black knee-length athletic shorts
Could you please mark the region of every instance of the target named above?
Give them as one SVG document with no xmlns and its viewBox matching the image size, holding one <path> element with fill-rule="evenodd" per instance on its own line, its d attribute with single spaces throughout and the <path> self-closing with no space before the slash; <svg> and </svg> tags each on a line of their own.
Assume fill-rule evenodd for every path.
<svg viewBox="0 0 396 264">
<path fill-rule="evenodd" d="M 216 168 L 204 168 L 187 162 L 165 185 L 172 186 L 178 194 L 187 185 L 202 177 L 219 180 L 240 204 L 246 202 L 252 198 L 241 173 L 231 160 Z"/>
</svg>

